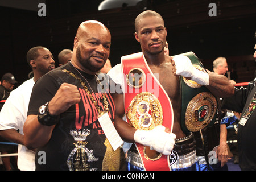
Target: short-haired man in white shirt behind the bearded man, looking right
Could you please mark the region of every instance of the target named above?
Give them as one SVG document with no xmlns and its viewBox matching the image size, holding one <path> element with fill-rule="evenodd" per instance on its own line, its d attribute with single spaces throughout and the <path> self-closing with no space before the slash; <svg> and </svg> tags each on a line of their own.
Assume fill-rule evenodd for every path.
<svg viewBox="0 0 256 182">
<path fill-rule="evenodd" d="M 0 112 L 0 136 L 19 144 L 18 168 L 22 171 L 33 171 L 35 170 L 35 151 L 28 150 L 23 145 L 23 125 L 27 119 L 32 88 L 36 80 L 55 68 L 55 61 L 47 48 L 38 46 L 27 52 L 27 62 L 34 72 L 34 78 L 23 82 L 7 98 Z"/>
</svg>

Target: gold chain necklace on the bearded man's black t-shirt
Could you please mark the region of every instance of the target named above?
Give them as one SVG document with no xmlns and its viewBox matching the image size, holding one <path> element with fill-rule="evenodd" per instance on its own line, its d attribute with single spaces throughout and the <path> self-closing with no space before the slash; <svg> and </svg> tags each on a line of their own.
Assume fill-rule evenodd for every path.
<svg viewBox="0 0 256 182">
<path fill-rule="evenodd" d="M 71 64 L 72 64 L 72 63 L 71 63 Z M 72 64 L 72 65 L 73 65 L 73 64 Z M 76 69 L 77 72 L 79 72 L 79 74 L 82 76 L 82 78 L 84 78 L 84 80 L 85 80 L 85 81 L 87 82 L 87 84 L 89 85 L 90 90 L 92 90 L 92 92 L 93 92 L 93 89 L 92 89 L 92 87 L 90 86 L 89 82 L 86 80 L 86 78 L 80 73 L 80 71 L 79 71 L 74 65 L 73 65 L 73 67 Z M 93 104 L 95 105 L 95 107 L 96 107 L 96 109 L 97 109 L 97 111 L 98 111 L 98 115 L 99 115 L 99 116 L 103 115 L 104 113 L 108 113 L 108 111 L 109 111 L 109 104 L 108 104 L 108 101 L 106 100 L 106 94 L 105 94 L 105 92 L 102 92 L 104 107 L 102 108 L 103 111 L 101 111 L 100 95 L 98 96 L 99 98 L 97 98 L 97 97 L 96 97 L 96 94 L 93 92 L 93 93 L 94 93 L 94 96 L 95 96 L 95 97 L 97 98 L 97 100 L 98 100 L 98 104 L 97 104 L 97 102 L 94 100 L 94 98 L 93 98 L 93 96 L 92 96 L 92 93 L 90 92 L 90 90 L 89 90 L 89 89 L 87 88 L 87 86 L 85 85 L 85 82 L 82 81 L 80 77 L 78 77 L 75 73 L 72 73 L 71 71 L 67 71 L 67 69 L 63 69 L 63 71 L 64 71 L 65 73 L 68 73 L 69 75 L 75 77 L 76 80 L 79 80 L 79 81 L 81 82 L 81 85 L 82 85 L 82 87 L 84 88 L 85 92 L 89 95 L 90 100 L 92 100 Z M 96 75 L 95 75 L 95 77 L 96 77 Z M 97 82 L 97 84 L 100 84 L 100 83 L 98 83 L 97 77 L 96 77 L 96 82 Z"/>
</svg>

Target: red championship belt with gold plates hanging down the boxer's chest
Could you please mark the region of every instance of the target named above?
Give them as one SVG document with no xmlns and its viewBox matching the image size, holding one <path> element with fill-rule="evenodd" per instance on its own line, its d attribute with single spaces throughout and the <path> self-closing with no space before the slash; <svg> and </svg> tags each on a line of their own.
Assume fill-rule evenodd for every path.
<svg viewBox="0 0 256 182">
<path fill-rule="evenodd" d="M 170 98 L 148 67 L 143 53 L 122 56 L 121 63 L 125 74 L 124 102 L 127 122 L 136 129 L 152 130 L 163 125 L 172 131 L 174 118 Z M 169 156 L 139 143 L 135 143 L 135 146 L 145 170 L 171 170 Z"/>
</svg>

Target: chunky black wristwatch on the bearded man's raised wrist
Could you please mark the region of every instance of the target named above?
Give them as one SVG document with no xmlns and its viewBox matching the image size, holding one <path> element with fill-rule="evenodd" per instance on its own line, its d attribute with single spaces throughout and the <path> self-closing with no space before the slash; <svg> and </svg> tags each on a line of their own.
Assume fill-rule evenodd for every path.
<svg viewBox="0 0 256 182">
<path fill-rule="evenodd" d="M 46 126 L 56 125 L 59 122 L 60 115 L 51 115 L 48 110 L 48 104 L 49 102 L 39 107 L 38 121 Z"/>
</svg>

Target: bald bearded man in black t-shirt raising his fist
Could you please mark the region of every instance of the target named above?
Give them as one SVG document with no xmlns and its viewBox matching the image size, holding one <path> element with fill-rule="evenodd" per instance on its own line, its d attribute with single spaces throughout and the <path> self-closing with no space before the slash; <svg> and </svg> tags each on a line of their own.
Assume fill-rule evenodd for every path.
<svg viewBox="0 0 256 182">
<path fill-rule="evenodd" d="M 36 170 L 119 169 L 119 148 L 113 150 L 100 123 L 113 126 L 115 107 L 109 93 L 98 92 L 96 76 L 110 45 L 104 24 L 83 22 L 71 61 L 36 82 L 24 124 L 25 145 L 37 148 Z"/>
</svg>

